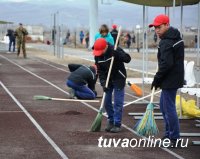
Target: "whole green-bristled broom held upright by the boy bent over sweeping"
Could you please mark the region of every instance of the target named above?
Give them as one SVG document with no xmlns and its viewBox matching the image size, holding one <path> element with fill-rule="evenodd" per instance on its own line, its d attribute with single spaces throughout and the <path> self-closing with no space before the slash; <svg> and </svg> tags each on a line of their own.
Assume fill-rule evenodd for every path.
<svg viewBox="0 0 200 159">
<path fill-rule="evenodd" d="M 116 42 L 115 42 L 114 50 L 117 49 L 117 44 L 118 44 L 118 41 L 119 41 L 120 32 L 121 32 L 121 26 L 119 27 L 119 31 L 118 31 L 118 34 L 117 34 L 117 39 L 116 39 Z M 106 88 L 108 87 L 108 82 L 109 82 L 109 79 L 110 79 L 110 74 L 111 74 L 113 62 L 114 62 L 114 57 L 112 56 L 109 71 L 108 71 L 108 76 L 107 76 L 107 79 L 106 79 L 106 85 L 105 85 Z M 103 98 L 102 98 L 102 101 L 101 101 L 101 106 L 100 106 L 99 112 L 98 112 L 98 114 L 97 114 L 97 116 L 96 116 L 95 120 L 93 121 L 92 126 L 90 128 L 91 132 L 97 132 L 97 131 L 101 130 L 101 121 L 102 121 L 102 118 L 103 118 L 103 106 L 104 106 L 104 102 L 105 102 L 105 97 L 106 97 L 106 92 L 103 92 Z"/>
</svg>

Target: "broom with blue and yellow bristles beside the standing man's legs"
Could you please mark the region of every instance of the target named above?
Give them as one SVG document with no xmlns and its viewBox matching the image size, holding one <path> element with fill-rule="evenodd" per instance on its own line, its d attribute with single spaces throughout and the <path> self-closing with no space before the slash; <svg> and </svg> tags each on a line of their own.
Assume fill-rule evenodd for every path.
<svg viewBox="0 0 200 159">
<path fill-rule="evenodd" d="M 152 136 L 158 134 L 159 130 L 157 128 L 155 119 L 154 119 L 154 104 L 153 104 L 153 96 L 155 92 L 155 87 L 152 89 L 151 100 L 147 105 L 146 112 L 143 115 L 142 119 L 139 120 L 134 126 L 134 130 L 143 136 Z"/>
</svg>

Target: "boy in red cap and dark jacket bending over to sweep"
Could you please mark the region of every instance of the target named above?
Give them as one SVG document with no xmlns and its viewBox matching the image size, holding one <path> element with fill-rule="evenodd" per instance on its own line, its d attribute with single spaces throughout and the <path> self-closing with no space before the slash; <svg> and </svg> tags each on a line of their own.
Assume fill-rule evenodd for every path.
<svg viewBox="0 0 200 159">
<path fill-rule="evenodd" d="M 117 133 L 121 131 L 120 127 L 124 104 L 124 87 L 127 76 L 124 62 L 129 63 L 131 57 L 119 47 L 115 51 L 113 46 L 107 43 L 104 38 L 97 39 L 93 48 L 100 83 L 103 90 L 106 92 L 104 107 L 108 114 L 108 122 L 105 130 L 107 132 Z M 114 56 L 114 62 L 108 87 L 106 88 L 106 79 L 112 56 Z M 113 91 L 114 105 L 112 105 Z"/>
</svg>

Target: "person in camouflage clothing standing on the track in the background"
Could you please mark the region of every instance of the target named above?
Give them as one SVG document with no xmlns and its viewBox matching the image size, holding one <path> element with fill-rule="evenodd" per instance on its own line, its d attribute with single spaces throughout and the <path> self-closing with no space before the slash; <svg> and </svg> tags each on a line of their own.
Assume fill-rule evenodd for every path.
<svg viewBox="0 0 200 159">
<path fill-rule="evenodd" d="M 26 58 L 26 35 L 28 35 L 27 30 L 23 27 L 22 23 L 19 23 L 19 27 L 15 31 L 17 37 L 17 56 L 20 54 L 20 48 L 22 47 L 24 58 Z"/>
</svg>

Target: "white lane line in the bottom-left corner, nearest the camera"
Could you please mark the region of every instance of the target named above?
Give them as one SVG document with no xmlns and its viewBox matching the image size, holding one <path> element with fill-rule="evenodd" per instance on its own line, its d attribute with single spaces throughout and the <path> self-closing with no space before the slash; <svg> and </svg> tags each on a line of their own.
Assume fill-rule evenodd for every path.
<svg viewBox="0 0 200 159">
<path fill-rule="evenodd" d="M 56 143 L 47 135 L 47 133 L 42 129 L 42 127 L 37 123 L 37 121 L 31 116 L 31 114 L 23 107 L 23 105 L 14 97 L 14 95 L 6 88 L 6 86 L 0 81 L 0 85 L 9 94 L 13 101 L 19 106 L 19 108 L 26 114 L 30 121 L 35 125 L 35 127 L 40 131 L 40 133 L 46 138 L 46 140 L 51 144 L 51 146 L 57 151 L 57 153 L 63 158 L 68 159 L 68 157 L 63 153 L 63 151 L 56 145 Z"/>
</svg>

